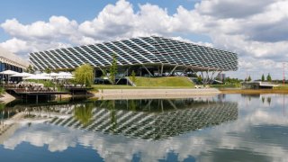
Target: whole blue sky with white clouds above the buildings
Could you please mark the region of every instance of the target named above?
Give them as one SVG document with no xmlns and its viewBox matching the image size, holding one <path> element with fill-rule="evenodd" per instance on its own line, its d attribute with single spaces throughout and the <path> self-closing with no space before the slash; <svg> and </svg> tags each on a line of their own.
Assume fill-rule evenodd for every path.
<svg viewBox="0 0 288 162">
<path fill-rule="evenodd" d="M 27 57 L 56 49 L 159 35 L 237 52 L 229 76 L 282 78 L 288 59 L 287 0 L 9 0 L 0 46 Z M 285 67 L 288 72 L 288 61 Z"/>
</svg>

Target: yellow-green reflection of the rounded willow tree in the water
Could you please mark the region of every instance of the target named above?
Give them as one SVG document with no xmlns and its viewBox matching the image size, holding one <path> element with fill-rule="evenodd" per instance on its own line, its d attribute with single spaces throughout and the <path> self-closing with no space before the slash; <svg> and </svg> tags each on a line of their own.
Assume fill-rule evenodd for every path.
<svg viewBox="0 0 288 162">
<path fill-rule="evenodd" d="M 74 109 L 74 116 L 76 120 L 80 121 L 83 125 L 88 124 L 88 122 L 91 120 L 93 116 L 92 114 L 93 108 L 94 108 L 93 103 L 85 103 L 76 106 L 76 108 Z"/>
</svg>

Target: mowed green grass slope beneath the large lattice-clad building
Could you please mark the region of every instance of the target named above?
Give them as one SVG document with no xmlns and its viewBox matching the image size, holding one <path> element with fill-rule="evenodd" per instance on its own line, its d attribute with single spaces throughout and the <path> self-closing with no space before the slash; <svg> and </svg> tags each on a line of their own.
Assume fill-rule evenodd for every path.
<svg viewBox="0 0 288 162">
<path fill-rule="evenodd" d="M 164 76 L 164 77 L 136 77 L 136 86 L 169 86 L 193 87 L 192 81 L 184 76 Z"/>
</svg>

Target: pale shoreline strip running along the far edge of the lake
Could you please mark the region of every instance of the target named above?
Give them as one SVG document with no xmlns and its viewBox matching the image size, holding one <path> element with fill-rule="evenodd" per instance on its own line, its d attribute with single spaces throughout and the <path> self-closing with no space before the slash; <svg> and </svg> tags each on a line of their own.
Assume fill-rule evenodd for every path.
<svg viewBox="0 0 288 162">
<path fill-rule="evenodd" d="M 212 96 L 215 94 L 288 94 L 288 89 L 236 89 L 236 88 L 162 88 L 162 89 L 102 89 L 97 93 L 62 95 L 62 99 L 73 97 L 99 98 L 107 99 L 165 99 L 165 98 L 191 98 L 200 96 Z M 57 96 L 56 98 L 59 98 Z M 10 94 L 4 93 L 0 97 L 1 103 L 10 103 L 16 98 Z"/>
</svg>

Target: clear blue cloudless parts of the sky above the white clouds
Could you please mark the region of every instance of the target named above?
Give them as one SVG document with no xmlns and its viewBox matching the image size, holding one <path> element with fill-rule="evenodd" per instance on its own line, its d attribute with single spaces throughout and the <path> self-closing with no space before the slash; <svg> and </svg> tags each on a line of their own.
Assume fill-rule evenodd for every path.
<svg viewBox="0 0 288 162">
<path fill-rule="evenodd" d="M 0 5 L 0 23 L 7 19 L 17 19 L 23 24 L 37 21 L 48 21 L 52 15 L 63 15 L 71 20 L 82 23 L 85 20 L 92 20 L 102 11 L 106 4 L 115 4 L 115 0 L 9 0 Z M 157 4 L 166 8 L 168 14 L 175 14 L 179 5 L 187 9 L 193 9 L 198 0 L 131 0 L 135 11 L 139 11 L 139 4 Z M 0 41 L 11 38 L 0 28 Z M 182 37 L 196 41 L 211 41 L 209 37 L 193 33 L 192 35 L 181 34 Z"/>
</svg>

